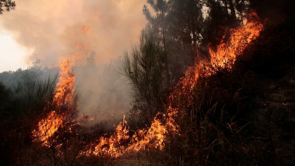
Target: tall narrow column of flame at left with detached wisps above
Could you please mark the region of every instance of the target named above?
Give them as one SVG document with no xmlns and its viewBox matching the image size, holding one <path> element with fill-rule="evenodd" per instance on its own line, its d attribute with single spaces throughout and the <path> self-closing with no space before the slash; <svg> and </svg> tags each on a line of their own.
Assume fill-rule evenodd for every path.
<svg viewBox="0 0 295 166">
<path fill-rule="evenodd" d="M 90 34 L 91 30 L 87 26 L 81 26 L 80 34 L 85 36 Z M 86 36 L 88 37 L 88 36 Z M 77 45 L 76 49 L 83 48 L 81 51 L 87 54 L 87 46 L 90 40 Z M 44 145 L 48 145 L 48 139 L 62 127 L 64 121 L 74 114 L 77 108 L 75 100 L 75 73 L 73 72 L 75 61 L 79 55 L 72 55 L 71 58 L 64 59 L 59 65 L 59 82 L 57 84 L 56 93 L 53 98 L 55 110 L 51 111 L 46 118 L 41 119 L 38 123 L 38 128 L 33 130 L 32 134 L 35 141 L 41 141 Z M 47 107 L 46 107 L 47 108 Z"/>
</svg>

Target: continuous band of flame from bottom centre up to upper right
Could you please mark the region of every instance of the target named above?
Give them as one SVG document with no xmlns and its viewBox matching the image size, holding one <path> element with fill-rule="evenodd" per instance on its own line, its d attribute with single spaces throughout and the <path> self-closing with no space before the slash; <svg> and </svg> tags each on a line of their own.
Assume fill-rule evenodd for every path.
<svg viewBox="0 0 295 166">
<path fill-rule="evenodd" d="M 263 24 L 259 22 L 256 13 L 251 13 L 248 16 L 247 24 L 230 30 L 231 36 L 228 42 L 225 42 L 224 36 L 216 51 L 209 45 L 210 61 L 200 61 L 195 63 L 193 67 L 189 67 L 184 77 L 179 80 L 175 91 L 169 96 L 168 109 L 163 115 L 164 123 L 161 123 L 161 120 L 157 119 L 156 116 L 148 129 L 137 131 L 131 138 L 128 136 L 128 128 L 122 127 L 124 122 L 120 123 L 114 135 L 110 138 L 101 137 L 97 141 L 99 142 L 98 144 L 91 144 L 89 150 L 81 152 L 81 155 L 118 157 L 124 153 L 137 152 L 144 149 L 163 149 L 165 135 L 168 131 L 174 134 L 179 133 L 179 126 L 176 122 L 178 112 L 181 108 L 189 107 L 194 103 L 192 97 L 194 94 L 193 90 L 198 83 L 200 75 L 209 76 L 214 73 L 214 69 L 226 68 L 231 70 L 236 61 L 236 56 L 252 40 L 259 36 L 262 29 Z M 129 141 L 129 143 L 126 144 L 126 141 Z"/>
</svg>

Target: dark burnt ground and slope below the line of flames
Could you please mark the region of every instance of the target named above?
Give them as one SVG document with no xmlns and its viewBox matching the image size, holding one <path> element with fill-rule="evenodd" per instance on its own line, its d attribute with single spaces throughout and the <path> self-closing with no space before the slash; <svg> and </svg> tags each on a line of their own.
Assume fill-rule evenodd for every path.
<svg viewBox="0 0 295 166">
<path fill-rule="evenodd" d="M 295 22 L 265 25 L 238 56 L 232 71 L 201 77 L 194 104 L 180 110 L 180 134 L 164 150 L 109 157 L 79 157 L 101 135 L 74 128 L 62 157 L 32 143 L 33 116 L 0 122 L 0 165 L 295 165 Z M 93 132 L 97 132 L 93 134 Z M 82 143 L 81 143 L 82 142 Z"/>
</svg>

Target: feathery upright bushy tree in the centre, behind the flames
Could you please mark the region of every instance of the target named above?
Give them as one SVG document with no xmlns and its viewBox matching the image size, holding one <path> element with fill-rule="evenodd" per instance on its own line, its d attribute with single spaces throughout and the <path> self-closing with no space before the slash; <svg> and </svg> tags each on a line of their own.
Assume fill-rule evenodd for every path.
<svg viewBox="0 0 295 166">
<path fill-rule="evenodd" d="M 164 52 L 153 35 L 143 30 L 140 45 L 123 59 L 123 74 L 129 80 L 134 98 L 134 115 L 150 122 L 161 107 L 165 87 Z"/>
</svg>

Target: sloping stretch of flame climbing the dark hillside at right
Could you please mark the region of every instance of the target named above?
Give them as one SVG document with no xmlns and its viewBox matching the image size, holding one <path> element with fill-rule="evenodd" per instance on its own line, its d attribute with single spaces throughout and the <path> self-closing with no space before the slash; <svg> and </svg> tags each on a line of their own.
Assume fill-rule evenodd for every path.
<svg viewBox="0 0 295 166">
<path fill-rule="evenodd" d="M 200 75 L 209 76 L 218 69 L 231 70 L 235 64 L 236 56 L 241 54 L 250 42 L 259 36 L 260 31 L 263 29 L 263 24 L 259 22 L 257 14 L 251 13 L 247 19 L 247 24 L 230 30 L 231 36 L 229 41 L 226 42 L 225 36 L 223 36 L 223 40 L 217 46 L 216 51 L 210 45 L 208 46 L 211 57 L 209 62 L 200 61 L 195 63 L 195 66 L 189 67 L 185 72 L 185 76 L 179 80 L 176 86 L 177 88 L 169 97 L 169 108 L 166 113 L 168 115 L 166 117 L 166 124 L 173 131 L 178 131 L 175 118 L 177 117 L 179 108 L 189 107 L 193 103 L 193 89 Z M 182 97 L 182 99 L 179 100 L 179 97 Z"/>
</svg>

